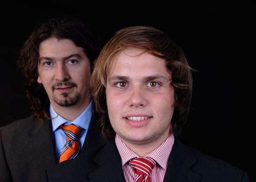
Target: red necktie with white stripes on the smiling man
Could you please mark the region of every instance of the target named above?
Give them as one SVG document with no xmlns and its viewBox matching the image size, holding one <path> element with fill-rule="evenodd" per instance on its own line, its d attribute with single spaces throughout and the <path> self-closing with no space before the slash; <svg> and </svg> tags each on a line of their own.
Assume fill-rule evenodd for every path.
<svg viewBox="0 0 256 182">
<path fill-rule="evenodd" d="M 134 158 L 130 160 L 130 165 L 132 166 L 136 176 L 134 181 L 136 182 L 150 182 L 150 175 L 153 167 L 156 165 L 156 161 L 152 158 Z"/>
</svg>

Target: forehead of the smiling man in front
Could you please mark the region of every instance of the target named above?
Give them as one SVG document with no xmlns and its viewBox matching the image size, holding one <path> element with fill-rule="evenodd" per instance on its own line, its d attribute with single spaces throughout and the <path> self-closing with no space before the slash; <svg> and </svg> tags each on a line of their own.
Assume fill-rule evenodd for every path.
<svg viewBox="0 0 256 182">
<path fill-rule="evenodd" d="M 167 71 L 166 61 L 147 51 L 135 47 L 127 47 L 120 51 L 113 59 L 109 68 L 109 75 L 154 74 Z"/>
</svg>

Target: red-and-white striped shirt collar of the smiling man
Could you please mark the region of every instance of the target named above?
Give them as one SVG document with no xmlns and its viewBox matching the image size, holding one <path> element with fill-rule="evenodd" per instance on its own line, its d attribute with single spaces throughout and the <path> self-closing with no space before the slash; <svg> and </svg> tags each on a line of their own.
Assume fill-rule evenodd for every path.
<svg viewBox="0 0 256 182">
<path fill-rule="evenodd" d="M 118 135 L 115 135 L 115 144 L 117 145 L 118 151 L 120 153 L 122 165 L 126 164 L 133 158 L 139 157 L 120 140 Z M 164 141 L 159 147 L 147 154 L 145 157 L 154 159 L 162 168 L 166 170 L 173 144 L 174 136 L 171 134 L 166 139 L 166 141 Z"/>
</svg>

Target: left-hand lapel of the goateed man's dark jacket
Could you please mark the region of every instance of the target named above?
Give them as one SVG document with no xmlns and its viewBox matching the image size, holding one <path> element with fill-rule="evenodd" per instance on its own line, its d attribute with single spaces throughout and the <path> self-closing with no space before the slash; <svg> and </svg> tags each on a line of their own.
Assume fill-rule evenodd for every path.
<svg viewBox="0 0 256 182">
<path fill-rule="evenodd" d="M 35 164 L 37 168 L 42 169 L 57 164 L 51 121 L 36 120 L 28 128 L 28 132 L 32 136 L 25 144 L 24 150 L 28 159 L 32 161 L 31 164 Z"/>
</svg>

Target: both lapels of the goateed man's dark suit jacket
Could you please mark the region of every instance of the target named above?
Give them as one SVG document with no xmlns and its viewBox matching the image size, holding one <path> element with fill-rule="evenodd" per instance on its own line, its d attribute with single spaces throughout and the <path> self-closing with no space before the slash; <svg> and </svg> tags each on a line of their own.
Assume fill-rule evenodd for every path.
<svg viewBox="0 0 256 182">
<path fill-rule="evenodd" d="M 51 120 L 34 120 L 28 128 L 28 132 L 31 139 L 24 145 L 24 150 L 28 159 L 31 160 L 30 164 L 42 169 L 58 164 L 59 161 L 56 158 L 55 144 L 52 137 Z M 96 117 L 92 115 L 82 152 L 87 152 L 105 142 L 96 125 Z"/>
</svg>

